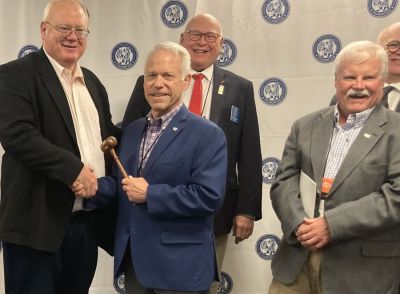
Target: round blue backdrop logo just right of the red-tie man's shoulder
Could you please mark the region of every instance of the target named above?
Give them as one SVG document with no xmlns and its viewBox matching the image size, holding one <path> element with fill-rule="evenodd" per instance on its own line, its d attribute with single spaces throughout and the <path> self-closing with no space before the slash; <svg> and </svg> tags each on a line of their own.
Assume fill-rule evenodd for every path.
<svg viewBox="0 0 400 294">
<path fill-rule="evenodd" d="M 275 106 L 286 98 L 287 87 L 284 81 L 273 77 L 261 84 L 259 94 L 265 104 Z"/>
</svg>

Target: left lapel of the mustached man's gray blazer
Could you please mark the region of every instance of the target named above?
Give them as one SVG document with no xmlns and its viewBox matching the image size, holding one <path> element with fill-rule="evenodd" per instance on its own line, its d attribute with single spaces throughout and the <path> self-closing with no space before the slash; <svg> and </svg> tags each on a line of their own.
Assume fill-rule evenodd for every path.
<svg viewBox="0 0 400 294">
<path fill-rule="evenodd" d="M 326 156 L 332 136 L 334 124 L 334 107 L 329 111 L 321 113 L 321 117 L 313 122 L 311 134 L 311 165 L 314 172 L 314 181 L 321 191 L 321 181 L 326 165 Z"/>
</svg>

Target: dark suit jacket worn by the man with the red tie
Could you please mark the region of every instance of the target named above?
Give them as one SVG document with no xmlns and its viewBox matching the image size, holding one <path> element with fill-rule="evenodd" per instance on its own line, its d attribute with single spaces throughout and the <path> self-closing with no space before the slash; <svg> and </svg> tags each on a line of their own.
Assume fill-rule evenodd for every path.
<svg viewBox="0 0 400 294">
<path fill-rule="evenodd" d="M 123 118 L 122 127 L 144 117 L 150 105 L 144 97 L 144 77 L 135 84 Z M 220 86 L 224 90 L 219 92 Z M 237 120 L 232 119 L 236 109 Z M 227 138 L 228 165 L 224 203 L 214 218 L 216 237 L 229 234 L 236 215 L 261 219 L 262 172 L 253 83 L 233 72 L 214 66 L 210 121 L 217 124 Z"/>
</svg>

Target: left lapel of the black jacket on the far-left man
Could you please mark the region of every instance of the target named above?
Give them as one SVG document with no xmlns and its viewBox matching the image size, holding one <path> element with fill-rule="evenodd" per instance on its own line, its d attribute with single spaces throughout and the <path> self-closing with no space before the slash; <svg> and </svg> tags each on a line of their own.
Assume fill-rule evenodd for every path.
<svg viewBox="0 0 400 294">
<path fill-rule="evenodd" d="M 43 85 L 48 89 L 50 97 L 56 104 L 60 115 L 63 118 L 64 123 L 67 127 L 69 135 L 71 136 L 75 144 L 78 144 L 76 140 L 74 124 L 72 122 L 71 111 L 68 105 L 68 100 L 65 96 L 61 82 L 58 79 L 57 74 L 54 71 L 54 68 L 51 65 L 50 61 L 47 59 L 43 49 L 38 52 L 37 56 L 39 57 L 37 63 L 38 72 L 41 74 Z"/>
</svg>

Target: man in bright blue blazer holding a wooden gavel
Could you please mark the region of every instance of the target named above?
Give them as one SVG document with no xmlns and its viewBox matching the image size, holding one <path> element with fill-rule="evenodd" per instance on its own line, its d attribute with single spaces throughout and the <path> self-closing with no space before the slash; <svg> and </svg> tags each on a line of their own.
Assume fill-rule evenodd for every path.
<svg viewBox="0 0 400 294">
<path fill-rule="evenodd" d="M 178 44 L 150 52 L 144 93 L 151 111 L 125 127 L 119 149 L 130 176 L 101 178 L 88 203 L 101 207 L 118 194 L 114 274 L 125 272 L 126 293 L 207 293 L 217 279 L 213 216 L 225 192 L 226 139 L 182 104 L 189 69 Z"/>
</svg>

